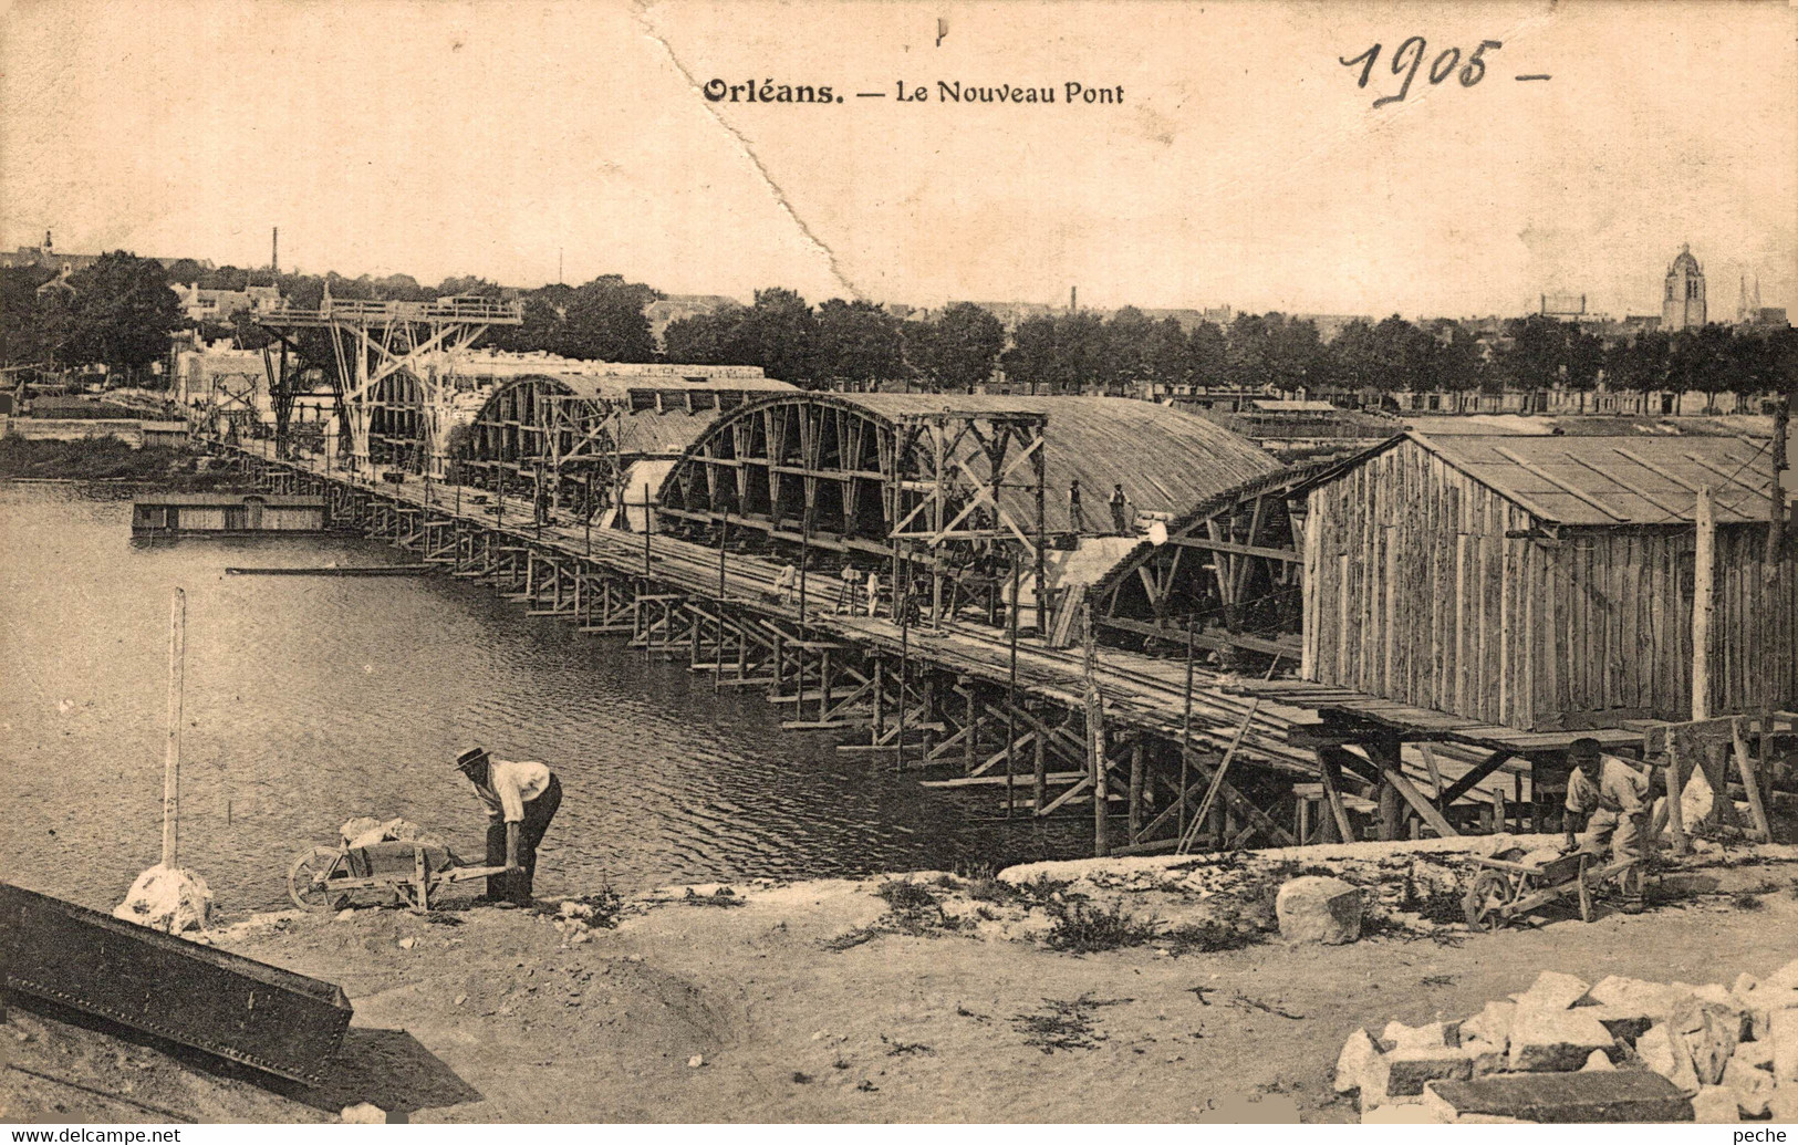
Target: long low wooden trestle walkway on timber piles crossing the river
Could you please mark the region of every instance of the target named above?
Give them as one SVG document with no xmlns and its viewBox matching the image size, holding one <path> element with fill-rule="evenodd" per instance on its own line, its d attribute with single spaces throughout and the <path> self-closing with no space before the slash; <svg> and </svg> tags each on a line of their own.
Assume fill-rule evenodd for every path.
<svg viewBox="0 0 1798 1145">
<path fill-rule="evenodd" d="M 1003 626 L 832 615 L 827 572 L 811 573 L 802 618 L 795 595 L 775 588 L 777 559 L 660 527 L 647 537 L 595 528 L 415 476 L 358 482 L 277 460 L 266 442 L 218 449 L 257 487 L 322 494 L 334 527 L 493 586 L 530 615 L 685 658 L 717 690 L 761 688 L 782 706 L 782 726 L 832 733 L 870 766 L 966 791 L 982 820 L 1091 820 L 1095 848 L 1109 854 L 1167 852 L 1181 839 L 1205 850 L 1539 829 L 1519 777 L 1566 750 L 1568 737 L 1500 728 L 1345 724 L 1322 717 L 1329 705 L 1304 688 L 1250 699 L 1187 658 L 1113 647 L 1097 651 L 1102 732 L 1090 744 L 1082 656 L 1050 647 L 1028 622 L 1016 636 Z M 1613 732 L 1607 750 L 1640 748 L 1640 735 L 1629 739 Z M 1095 814 L 1095 789 L 1106 814 Z"/>
</svg>

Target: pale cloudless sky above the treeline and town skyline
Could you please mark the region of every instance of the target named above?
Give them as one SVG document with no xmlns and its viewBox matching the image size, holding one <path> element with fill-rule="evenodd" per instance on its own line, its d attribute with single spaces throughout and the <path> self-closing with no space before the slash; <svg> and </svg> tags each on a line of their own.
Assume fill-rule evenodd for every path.
<svg viewBox="0 0 1798 1145">
<path fill-rule="evenodd" d="M 1713 318 L 1742 275 L 1798 307 L 1775 0 L 0 5 L 5 248 L 264 266 L 279 226 L 284 268 L 424 282 L 538 286 L 561 257 L 568 282 L 741 298 L 1420 316 L 1544 291 L 1658 313 L 1688 243 Z M 1374 43 L 1357 88 L 1341 59 Z M 843 99 L 714 102 L 714 79 Z"/>
</svg>

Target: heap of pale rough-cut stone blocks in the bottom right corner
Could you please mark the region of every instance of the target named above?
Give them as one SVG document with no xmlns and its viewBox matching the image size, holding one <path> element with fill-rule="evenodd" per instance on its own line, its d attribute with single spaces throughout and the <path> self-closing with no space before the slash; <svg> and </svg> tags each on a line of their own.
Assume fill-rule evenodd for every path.
<svg viewBox="0 0 1798 1145">
<path fill-rule="evenodd" d="M 1366 1123 L 1798 1120 L 1798 960 L 1733 985 L 1543 972 L 1464 1021 L 1356 1030 Z"/>
</svg>

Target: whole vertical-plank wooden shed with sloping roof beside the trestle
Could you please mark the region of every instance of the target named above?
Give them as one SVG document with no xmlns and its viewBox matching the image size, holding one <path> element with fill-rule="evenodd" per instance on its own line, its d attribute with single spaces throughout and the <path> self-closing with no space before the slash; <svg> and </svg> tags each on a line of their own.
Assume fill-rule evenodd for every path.
<svg viewBox="0 0 1798 1145">
<path fill-rule="evenodd" d="M 1537 732 L 1690 719 L 1710 489 L 1708 714 L 1793 708 L 1771 480 L 1769 448 L 1737 437 L 1395 437 L 1307 494 L 1304 676 Z"/>
</svg>

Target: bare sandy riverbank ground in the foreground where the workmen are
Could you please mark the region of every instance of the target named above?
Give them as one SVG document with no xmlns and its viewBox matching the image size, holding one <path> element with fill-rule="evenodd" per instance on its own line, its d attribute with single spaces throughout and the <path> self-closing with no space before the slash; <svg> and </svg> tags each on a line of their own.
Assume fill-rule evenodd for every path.
<svg viewBox="0 0 1798 1145">
<path fill-rule="evenodd" d="M 1079 875 L 1064 897 L 1124 902 L 1163 933 L 1181 911 L 1264 922 L 1250 899 L 1266 879 L 1232 899 L 1190 859 L 1050 874 Z M 307 1122 L 367 1100 L 412 1122 L 1345 1122 L 1356 1111 L 1331 1070 L 1356 1025 L 1464 1017 L 1543 969 L 1766 974 L 1798 956 L 1794 877 L 1791 847 L 1713 850 L 1645 915 L 1386 928 L 1343 947 L 1268 935 L 1223 953 L 1046 949 L 1043 906 L 935 875 L 913 879 L 942 913 L 926 906 L 912 926 L 876 895 L 881 881 L 739 884 L 739 906 L 676 890 L 575 940 L 550 917 L 494 908 L 259 917 L 219 945 L 338 981 L 354 1003 L 327 1084 L 14 1007 L 0 1118 Z"/>
</svg>

